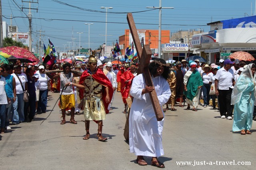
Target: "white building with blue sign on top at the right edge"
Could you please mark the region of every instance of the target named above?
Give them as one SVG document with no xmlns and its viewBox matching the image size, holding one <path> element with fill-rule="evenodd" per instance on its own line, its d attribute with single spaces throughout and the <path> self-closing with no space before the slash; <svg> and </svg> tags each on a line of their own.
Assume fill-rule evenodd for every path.
<svg viewBox="0 0 256 170">
<path fill-rule="evenodd" d="M 256 57 L 256 16 L 208 23 L 209 32 L 192 37 L 192 47 L 209 63 L 228 58 L 229 53 L 246 51 Z M 221 56 L 221 53 L 228 53 Z"/>
</svg>

